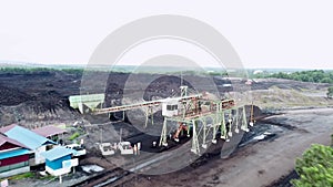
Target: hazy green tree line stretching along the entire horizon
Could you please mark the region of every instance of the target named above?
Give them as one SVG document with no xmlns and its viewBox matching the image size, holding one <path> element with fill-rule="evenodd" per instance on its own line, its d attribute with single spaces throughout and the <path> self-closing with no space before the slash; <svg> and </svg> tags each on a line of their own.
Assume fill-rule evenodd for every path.
<svg viewBox="0 0 333 187">
<path fill-rule="evenodd" d="M 83 72 L 100 72 L 100 71 L 110 71 L 108 67 L 20 67 L 20 66 L 7 66 L 0 67 L 0 74 L 32 74 L 32 73 L 42 73 L 42 72 L 65 72 L 68 74 L 75 74 L 82 75 Z M 138 72 L 135 72 L 138 71 Z M 323 71 L 323 70 L 311 70 L 311 71 L 296 71 L 296 72 L 283 72 L 283 70 L 274 71 L 263 71 L 262 73 L 253 74 L 252 70 L 249 70 L 248 73 L 250 74 L 250 79 L 265 79 L 265 77 L 276 77 L 276 79 L 286 79 L 286 80 L 295 80 L 302 82 L 313 82 L 313 83 L 330 83 L 333 84 L 333 71 Z M 206 75 L 221 75 L 221 76 L 240 76 L 245 77 L 245 72 L 242 70 L 233 70 L 228 72 L 225 70 L 220 69 L 208 69 L 205 71 L 198 71 L 198 70 L 183 70 L 180 71 L 179 69 L 174 67 L 142 67 L 139 70 L 135 66 L 115 66 L 112 67 L 112 72 L 119 73 L 175 73 L 175 74 L 206 74 Z"/>
</svg>

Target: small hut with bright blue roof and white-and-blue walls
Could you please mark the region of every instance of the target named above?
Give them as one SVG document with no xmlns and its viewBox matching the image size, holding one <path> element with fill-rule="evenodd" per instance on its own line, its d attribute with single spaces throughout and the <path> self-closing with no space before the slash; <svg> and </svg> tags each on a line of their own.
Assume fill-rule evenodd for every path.
<svg viewBox="0 0 333 187">
<path fill-rule="evenodd" d="M 57 146 L 50 150 L 41 153 L 46 158 L 46 170 L 53 176 L 61 176 L 71 172 L 71 167 L 77 166 L 78 158 L 72 159 L 74 149 Z"/>
</svg>

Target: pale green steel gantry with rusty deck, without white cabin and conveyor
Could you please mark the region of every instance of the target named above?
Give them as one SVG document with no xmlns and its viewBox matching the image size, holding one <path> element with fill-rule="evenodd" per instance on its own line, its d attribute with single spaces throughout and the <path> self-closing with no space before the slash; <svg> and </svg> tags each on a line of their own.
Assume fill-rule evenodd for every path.
<svg viewBox="0 0 333 187">
<path fill-rule="evenodd" d="M 234 100 L 212 100 L 203 94 L 192 100 L 180 100 L 179 106 L 176 115 L 164 115 L 160 146 L 168 146 L 168 135 L 174 128 L 176 142 L 179 133 L 184 129 L 188 136 L 192 135 L 191 152 L 194 154 L 200 154 L 200 147 L 206 148 L 210 142 L 215 144 L 218 135 L 229 142 L 233 131 L 249 132 L 245 106 L 236 106 Z"/>
</svg>

